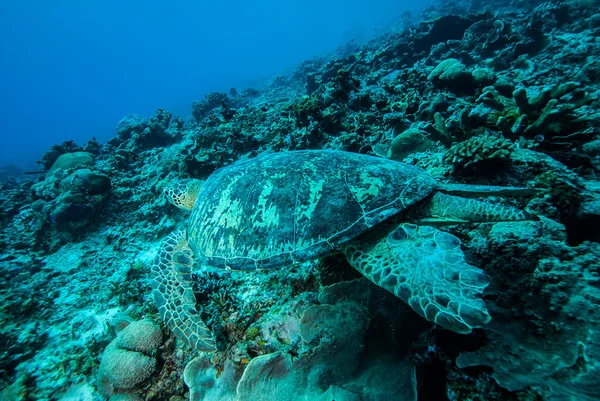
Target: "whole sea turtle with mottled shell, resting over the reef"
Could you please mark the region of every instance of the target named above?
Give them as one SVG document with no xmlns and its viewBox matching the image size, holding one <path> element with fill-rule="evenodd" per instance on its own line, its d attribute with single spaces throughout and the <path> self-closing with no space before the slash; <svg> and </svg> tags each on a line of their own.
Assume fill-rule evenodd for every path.
<svg viewBox="0 0 600 401">
<path fill-rule="evenodd" d="M 191 215 L 187 230 L 160 246 L 153 296 L 178 338 L 215 351 L 195 308 L 194 258 L 214 268 L 252 270 L 341 252 L 425 319 L 469 333 L 490 320 L 481 299 L 490 279 L 465 262 L 457 237 L 435 226 L 536 220 L 523 210 L 464 197 L 526 191 L 443 185 L 421 168 L 350 152 L 263 154 L 216 170 L 204 183 L 188 179 L 166 189 L 169 201 Z"/>
</svg>

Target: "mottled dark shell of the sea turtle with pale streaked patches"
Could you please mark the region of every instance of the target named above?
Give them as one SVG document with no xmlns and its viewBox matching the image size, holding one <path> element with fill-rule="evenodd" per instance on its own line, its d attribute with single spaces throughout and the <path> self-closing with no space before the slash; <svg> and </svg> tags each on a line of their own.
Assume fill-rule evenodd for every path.
<svg viewBox="0 0 600 401">
<path fill-rule="evenodd" d="M 192 210 L 201 263 L 272 268 L 325 256 L 425 198 L 424 170 L 341 151 L 269 153 L 215 171 Z"/>
</svg>

